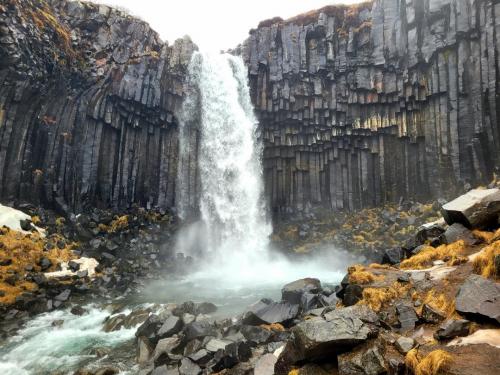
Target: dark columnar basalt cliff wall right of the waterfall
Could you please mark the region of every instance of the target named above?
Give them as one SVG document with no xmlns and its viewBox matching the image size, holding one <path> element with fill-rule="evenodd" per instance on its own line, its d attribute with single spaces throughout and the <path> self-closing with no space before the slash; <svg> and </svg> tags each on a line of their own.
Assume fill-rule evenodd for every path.
<svg viewBox="0 0 500 375">
<path fill-rule="evenodd" d="M 500 166 L 500 3 L 375 0 L 240 47 L 275 210 L 452 194 Z"/>
</svg>

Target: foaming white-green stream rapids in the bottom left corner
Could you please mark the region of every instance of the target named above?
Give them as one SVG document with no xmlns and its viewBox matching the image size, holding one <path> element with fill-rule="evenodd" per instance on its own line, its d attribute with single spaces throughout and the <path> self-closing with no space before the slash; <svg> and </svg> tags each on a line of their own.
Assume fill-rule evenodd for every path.
<svg viewBox="0 0 500 375">
<path fill-rule="evenodd" d="M 113 348 L 131 340 L 136 327 L 115 332 L 102 331 L 110 314 L 93 306 L 82 316 L 68 310 L 53 311 L 29 321 L 0 348 L 0 374 L 73 373 L 86 360 L 96 361 L 93 348 Z M 64 320 L 53 327 L 55 320 Z"/>
</svg>

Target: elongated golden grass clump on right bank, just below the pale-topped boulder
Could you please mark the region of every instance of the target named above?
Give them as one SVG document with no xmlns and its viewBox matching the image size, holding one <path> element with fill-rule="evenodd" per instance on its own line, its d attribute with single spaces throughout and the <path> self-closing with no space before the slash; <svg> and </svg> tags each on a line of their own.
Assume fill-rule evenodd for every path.
<svg viewBox="0 0 500 375">
<path fill-rule="evenodd" d="M 460 240 L 437 248 L 424 247 L 418 254 L 401 262 L 401 269 L 423 269 L 432 266 L 435 260 L 446 261 L 448 265 L 458 265 L 467 262 L 465 257 L 465 242 Z"/>
</svg>

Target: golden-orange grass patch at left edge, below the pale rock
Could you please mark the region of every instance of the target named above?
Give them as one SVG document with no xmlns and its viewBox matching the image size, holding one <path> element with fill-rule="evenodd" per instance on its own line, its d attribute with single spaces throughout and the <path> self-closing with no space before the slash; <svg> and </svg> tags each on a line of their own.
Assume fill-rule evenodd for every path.
<svg viewBox="0 0 500 375">
<path fill-rule="evenodd" d="M 53 242 L 59 239 L 58 235 L 50 237 Z M 37 263 L 41 257 L 46 257 L 52 262 L 52 266 L 47 271 L 54 271 L 58 263 L 74 258 L 71 252 L 74 244 L 69 244 L 64 249 L 54 246 L 53 249 L 45 251 L 44 246 L 48 240 L 38 233 L 23 234 L 9 228 L 0 229 L 0 259 L 12 260 L 10 265 L 0 266 L 0 290 L 5 292 L 5 295 L 0 297 L 0 303 L 11 304 L 24 291 L 36 289 L 36 284 L 23 279 L 26 266 L 31 265 L 35 271 L 41 271 Z M 21 276 L 15 285 L 4 281 L 12 274 Z"/>
</svg>

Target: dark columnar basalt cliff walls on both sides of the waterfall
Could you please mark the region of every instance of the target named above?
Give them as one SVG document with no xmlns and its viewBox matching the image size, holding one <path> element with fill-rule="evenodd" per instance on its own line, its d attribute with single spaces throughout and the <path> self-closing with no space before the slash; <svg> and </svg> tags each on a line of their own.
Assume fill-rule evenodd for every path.
<svg viewBox="0 0 500 375">
<path fill-rule="evenodd" d="M 262 22 L 249 66 L 274 211 L 454 193 L 500 166 L 500 3 L 375 0 Z M 66 0 L 0 3 L 0 198 L 175 205 L 189 39 Z"/>
</svg>

